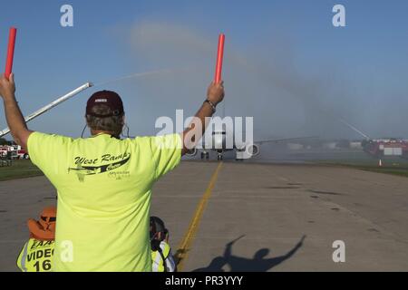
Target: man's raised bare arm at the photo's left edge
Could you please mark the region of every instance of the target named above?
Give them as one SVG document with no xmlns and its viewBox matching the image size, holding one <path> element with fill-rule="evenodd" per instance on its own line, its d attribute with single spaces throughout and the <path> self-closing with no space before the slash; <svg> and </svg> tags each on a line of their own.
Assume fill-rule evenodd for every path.
<svg viewBox="0 0 408 290">
<path fill-rule="evenodd" d="M 23 114 L 15 100 L 15 75 L 10 74 L 10 80 L 0 74 L 0 96 L 5 104 L 5 119 L 15 142 L 27 150 L 27 140 L 32 131 L 27 129 Z"/>
</svg>

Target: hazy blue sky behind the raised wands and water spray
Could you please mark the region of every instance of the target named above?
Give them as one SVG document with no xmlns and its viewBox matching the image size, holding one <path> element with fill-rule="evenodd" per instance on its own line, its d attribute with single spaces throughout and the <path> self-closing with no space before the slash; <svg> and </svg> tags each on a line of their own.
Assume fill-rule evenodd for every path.
<svg viewBox="0 0 408 290">
<path fill-rule="evenodd" d="M 63 4 L 73 5 L 73 27 L 60 25 Z M 344 28 L 332 25 L 335 4 L 345 5 Z M 254 116 L 259 138 L 358 137 L 337 117 L 373 137 L 408 138 L 407 12 L 403 0 L 16 0 L 0 11 L 0 65 L 8 28 L 15 25 L 14 72 L 24 114 L 83 82 L 192 69 L 92 88 L 30 125 L 78 136 L 87 97 L 111 89 L 123 97 L 131 133 L 153 134 L 157 117 L 171 117 L 176 109 L 193 114 L 199 107 L 224 32 L 227 112 Z M 5 127 L 3 113 L 0 125 Z"/>
</svg>

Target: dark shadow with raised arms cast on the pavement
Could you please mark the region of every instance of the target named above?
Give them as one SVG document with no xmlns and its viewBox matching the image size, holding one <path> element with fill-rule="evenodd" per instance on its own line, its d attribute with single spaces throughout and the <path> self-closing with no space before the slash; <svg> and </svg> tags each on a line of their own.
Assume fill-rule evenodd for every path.
<svg viewBox="0 0 408 290">
<path fill-rule="evenodd" d="M 306 236 L 303 236 L 296 246 L 283 256 L 265 258 L 269 254 L 269 249 L 261 248 L 254 254 L 252 259 L 248 259 L 232 255 L 232 246 L 241 237 L 238 237 L 226 245 L 224 256 L 215 257 L 211 263 L 209 263 L 209 266 L 196 269 L 193 272 L 225 272 L 223 266 L 226 265 L 230 267 L 231 272 L 267 272 L 274 266 L 281 264 L 291 256 L 295 255 L 296 251 L 303 246 L 303 242 L 306 238 Z"/>
</svg>

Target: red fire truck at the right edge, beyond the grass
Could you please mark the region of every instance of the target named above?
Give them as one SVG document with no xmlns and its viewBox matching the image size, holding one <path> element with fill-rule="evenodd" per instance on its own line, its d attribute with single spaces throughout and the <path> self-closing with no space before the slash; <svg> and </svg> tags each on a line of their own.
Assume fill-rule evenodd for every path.
<svg viewBox="0 0 408 290">
<path fill-rule="evenodd" d="M 365 152 L 377 158 L 397 156 L 408 159 L 408 140 L 397 138 L 364 140 L 362 146 Z"/>
</svg>

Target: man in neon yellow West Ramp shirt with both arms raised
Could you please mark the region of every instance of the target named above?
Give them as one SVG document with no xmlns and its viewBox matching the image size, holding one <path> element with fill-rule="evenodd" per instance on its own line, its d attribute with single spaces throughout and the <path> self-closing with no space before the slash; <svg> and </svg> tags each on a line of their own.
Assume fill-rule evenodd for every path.
<svg viewBox="0 0 408 290">
<path fill-rule="evenodd" d="M 206 118 L 224 98 L 223 83 L 181 134 L 120 140 L 124 109 L 115 92 L 87 102 L 92 137 L 72 139 L 30 131 L 15 100 L 14 75 L 0 75 L 0 95 L 15 142 L 58 192 L 54 271 L 151 271 L 149 213 L 154 182 L 199 141 Z"/>
</svg>

